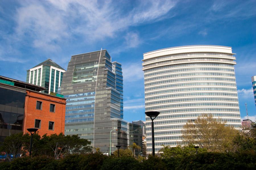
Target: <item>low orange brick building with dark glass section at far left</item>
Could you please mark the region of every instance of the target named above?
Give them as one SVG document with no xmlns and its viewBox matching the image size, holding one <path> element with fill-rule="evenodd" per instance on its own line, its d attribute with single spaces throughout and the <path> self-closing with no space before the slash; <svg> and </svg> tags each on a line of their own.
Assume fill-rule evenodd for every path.
<svg viewBox="0 0 256 170">
<path fill-rule="evenodd" d="M 45 89 L 0 76 L 0 141 L 27 128 L 41 136 L 64 133 L 66 99 L 40 93 Z"/>
</svg>

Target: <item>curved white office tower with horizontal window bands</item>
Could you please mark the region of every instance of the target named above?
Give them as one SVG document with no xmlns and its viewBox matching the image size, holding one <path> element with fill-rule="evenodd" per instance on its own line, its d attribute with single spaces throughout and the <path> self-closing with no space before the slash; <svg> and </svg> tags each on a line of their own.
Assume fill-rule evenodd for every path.
<svg viewBox="0 0 256 170">
<path fill-rule="evenodd" d="M 154 120 L 155 152 L 182 145 L 182 128 L 201 114 L 212 114 L 235 128 L 241 117 L 231 47 L 195 45 L 143 54 L 146 111 Z M 146 116 L 147 154 L 152 152 L 151 120 Z"/>
</svg>

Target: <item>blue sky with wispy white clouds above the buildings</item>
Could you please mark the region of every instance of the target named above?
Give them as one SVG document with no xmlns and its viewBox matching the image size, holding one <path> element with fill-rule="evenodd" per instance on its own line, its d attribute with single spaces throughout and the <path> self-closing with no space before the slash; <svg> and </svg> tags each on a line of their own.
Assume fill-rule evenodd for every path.
<svg viewBox="0 0 256 170">
<path fill-rule="evenodd" d="M 124 120 L 145 120 L 143 53 L 185 45 L 231 46 L 241 117 L 256 120 L 256 1 L 0 1 L 0 75 L 25 81 L 51 58 L 107 49 L 123 65 Z"/>
</svg>

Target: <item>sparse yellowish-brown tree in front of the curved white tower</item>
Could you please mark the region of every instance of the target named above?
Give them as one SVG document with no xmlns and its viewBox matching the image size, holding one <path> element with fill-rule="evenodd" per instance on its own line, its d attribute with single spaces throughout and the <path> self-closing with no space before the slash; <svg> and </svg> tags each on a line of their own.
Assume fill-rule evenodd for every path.
<svg viewBox="0 0 256 170">
<path fill-rule="evenodd" d="M 184 142 L 197 144 L 208 151 L 227 152 L 232 150 L 232 141 L 237 133 L 237 130 L 225 126 L 225 122 L 220 119 L 203 114 L 195 122 L 184 125 L 182 137 Z"/>
</svg>

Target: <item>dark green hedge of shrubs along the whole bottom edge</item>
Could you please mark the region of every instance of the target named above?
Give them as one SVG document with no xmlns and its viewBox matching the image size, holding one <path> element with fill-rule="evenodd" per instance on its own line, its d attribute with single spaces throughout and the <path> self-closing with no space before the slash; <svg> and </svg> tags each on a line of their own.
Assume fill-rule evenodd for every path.
<svg viewBox="0 0 256 170">
<path fill-rule="evenodd" d="M 16 158 L 12 162 L 1 162 L 1 170 L 203 170 L 203 169 L 255 169 L 256 155 L 254 152 L 249 153 L 218 153 L 218 152 L 204 152 L 193 156 L 185 156 L 181 158 L 162 159 L 159 157 L 150 156 L 147 160 L 139 162 L 132 157 L 115 158 L 109 157 L 101 153 L 95 154 L 71 154 L 59 160 L 54 157 L 36 156 L 36 157 L 22 157 Z"/>
</svg>

